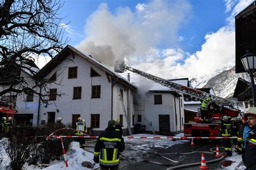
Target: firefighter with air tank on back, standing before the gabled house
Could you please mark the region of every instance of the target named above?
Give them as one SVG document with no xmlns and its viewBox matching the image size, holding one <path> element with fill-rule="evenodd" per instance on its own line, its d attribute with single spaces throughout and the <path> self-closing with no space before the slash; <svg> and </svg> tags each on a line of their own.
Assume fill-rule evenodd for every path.
<svg viewBox="0 0 256 170">
<path fill-rule="evenodd" d="M 82 117 L 78 117 L 77 121 L 78 121 L 76 123 L 76 131 L 77 132 L 75 134 L 76 134 L 76 136 L 84 136 L 85 133 L 87 132 L 85 122 L 83 122 Z M 76 141 L 79 142 L 80 148 L 85 147 L 84 138 L 76 138 Z"/>
</svg>

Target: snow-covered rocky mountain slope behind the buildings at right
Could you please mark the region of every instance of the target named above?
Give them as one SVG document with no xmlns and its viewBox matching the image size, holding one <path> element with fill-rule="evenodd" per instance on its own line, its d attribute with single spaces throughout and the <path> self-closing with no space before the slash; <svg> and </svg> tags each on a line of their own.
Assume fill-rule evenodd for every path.
<svg viewBox="0 0 256 170">
<path fill-rule="evenodd" d="M 223 98 L 232 98 L 238 78 L 250 82 L 247 73 L 235 73 L 235 66 L 216 70 L 213 74 L 196 76 L 190 80 L 192 88 L 212 87 L 215 95 Z"/>
</svg>

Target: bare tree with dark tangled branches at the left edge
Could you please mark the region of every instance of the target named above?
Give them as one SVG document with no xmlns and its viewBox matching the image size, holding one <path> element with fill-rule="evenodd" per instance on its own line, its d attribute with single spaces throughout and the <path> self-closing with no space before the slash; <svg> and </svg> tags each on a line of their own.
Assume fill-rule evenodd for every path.
<svg viewBox="0 0 256 170">
<path fill-rule="evenodd" d="M 1 3 L 1 1 L 0 1 Z M 37 73 L 34 61 L 51 57 L 66 45 L 64 25 L 59 17 L 60 0 L 3 0 L 0 4 L 0 96 L 41 93 L 51 81 L 33 79 Z M 21 74 L 21 70 L 28 75 Z M 4 87 L 4 88 L 3 88 Z"/>
</svg>

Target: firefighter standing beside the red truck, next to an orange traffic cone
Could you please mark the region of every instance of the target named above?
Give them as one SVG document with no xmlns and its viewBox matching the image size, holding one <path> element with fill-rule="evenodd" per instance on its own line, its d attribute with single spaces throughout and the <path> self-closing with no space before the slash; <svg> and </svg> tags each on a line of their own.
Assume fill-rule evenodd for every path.
<svg viewBox="0 0 256 170">
<path fill-rule="evenodd" d="M 231 136 L 231 122 L 228 120 L 227 116 L 223 116 L 220 125 L 220 133 L 222 137 L 230 137 Z M 230 139 L 223 139 L 223 145 L 228 157 L 232 156 L 232 148 Z"/>
</svg>

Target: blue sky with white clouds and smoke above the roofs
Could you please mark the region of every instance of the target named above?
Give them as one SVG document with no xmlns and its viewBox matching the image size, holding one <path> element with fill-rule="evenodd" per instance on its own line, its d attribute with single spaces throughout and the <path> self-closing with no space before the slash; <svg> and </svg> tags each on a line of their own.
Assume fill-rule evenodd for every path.
<svg viewBox="0 0 256 170">
<path fill-rule="evenodd" d="M 107 66 L 124 60 L 164 79 L 191 79 L 235 65 L 234 17 L 252 2 L 66 0 L 59 15 L 68 44 Z"/>
</svg>

